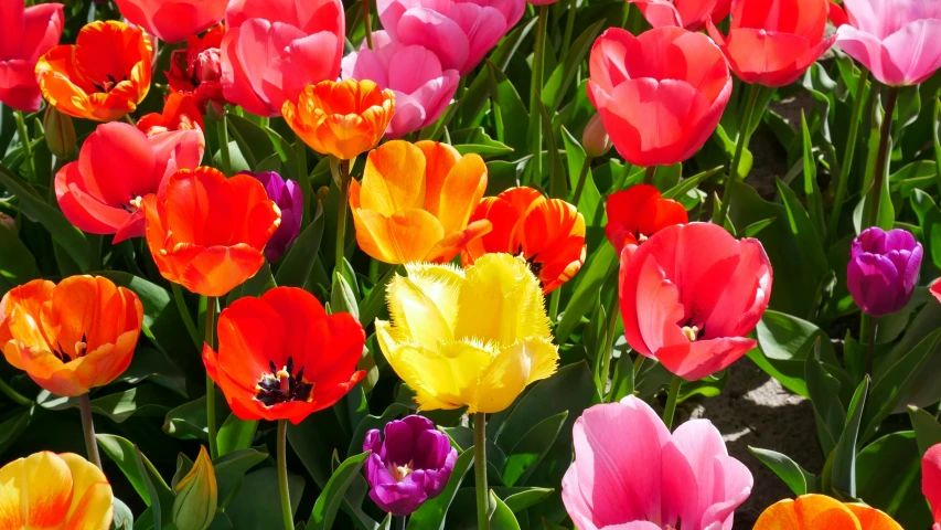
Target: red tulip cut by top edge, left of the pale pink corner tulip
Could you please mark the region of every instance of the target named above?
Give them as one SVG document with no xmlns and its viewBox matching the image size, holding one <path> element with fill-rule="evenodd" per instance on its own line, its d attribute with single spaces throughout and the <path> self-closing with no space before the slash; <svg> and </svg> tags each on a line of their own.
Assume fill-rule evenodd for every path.
<svg viewBox="0 0 941 530">
<path fill-rule="evenodd" d="M 823 38 L 828 3 L 830 0 L 733 0 L 727 36 L 713 21 L 706 25 L 738 78 L 784 86 L 803 75 L 836 39 Z"/>
</svg>

